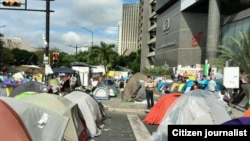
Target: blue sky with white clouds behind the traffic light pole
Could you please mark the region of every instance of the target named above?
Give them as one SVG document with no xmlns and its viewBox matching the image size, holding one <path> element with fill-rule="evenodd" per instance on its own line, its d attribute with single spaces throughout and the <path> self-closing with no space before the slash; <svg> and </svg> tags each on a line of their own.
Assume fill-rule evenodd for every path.
<svg viewBox="0 0 250 141">
<path fill-rule="evenodd" d="M 139 0 L 51 1 L 50 10 L 54 12 L 50 12 L 50 48 L 69 54 L 75 53 L 75 47 L 84 51 L 91 46 L 92 35 L 94 45 L 100 45 L 101 41 L 116 44 L 122 5 L 130 3 L 139 3 Z M 6 7 L 1 4 L 0 8 Z M 27 0 L 27 9 L 45 10 L 46 2 Z M 46 12 L 0 9 L 0 19 L 0 33 L 6 38 L 29 40 L 31 47 L 45 46 Z"/>
</svg>

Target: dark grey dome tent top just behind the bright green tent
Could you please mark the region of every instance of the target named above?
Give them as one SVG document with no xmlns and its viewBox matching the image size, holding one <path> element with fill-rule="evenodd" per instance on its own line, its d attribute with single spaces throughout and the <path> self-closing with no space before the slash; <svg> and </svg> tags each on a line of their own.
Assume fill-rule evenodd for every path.
<svg viewBox="0 0 250 141">
<path fill-rule="evenodd" d="M 48 87 L 41 82 L 29 81 L 29 82 L 26 82 L 17 86 L 11 92 L 10 97 L 15 97 L 19 95 L 20 93 L 27 92 L 27 91 L 32 91 L 32 92 L 37 92 L 37 93 L 48 92 Z"/>
</svg>

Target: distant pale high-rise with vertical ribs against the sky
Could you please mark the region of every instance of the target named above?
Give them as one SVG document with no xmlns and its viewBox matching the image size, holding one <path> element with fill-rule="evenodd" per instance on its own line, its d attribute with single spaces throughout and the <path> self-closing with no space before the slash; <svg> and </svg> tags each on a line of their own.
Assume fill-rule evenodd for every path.
<svg viewBox="0 0 250 141">
<path fill-rule="evenodd" d="M 123 4 L 120 54 L 129 55 L 138 50 L 139 3 Z"/>
</svg>

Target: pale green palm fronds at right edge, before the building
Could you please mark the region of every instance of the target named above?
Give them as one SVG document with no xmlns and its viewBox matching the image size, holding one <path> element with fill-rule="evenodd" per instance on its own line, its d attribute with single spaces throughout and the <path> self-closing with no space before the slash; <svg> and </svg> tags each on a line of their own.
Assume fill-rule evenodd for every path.
<svg viewBox="0 0 250 141">
<path fill-rule="evenodd" d="M 240 67 L 241 71 L 250 75 L 250 35 L 241 31 L 239 37 L 239 40 L 231 36 L 228 37 L 233 46 L 219 46 L 219 58 L 231 59 L 236 66 Z"/>
</svg>

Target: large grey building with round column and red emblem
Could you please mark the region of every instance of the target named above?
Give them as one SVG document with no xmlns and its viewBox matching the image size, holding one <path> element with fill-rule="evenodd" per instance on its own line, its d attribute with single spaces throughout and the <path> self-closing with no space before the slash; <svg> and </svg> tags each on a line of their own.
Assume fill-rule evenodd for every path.
<svg viewBox="0 0 250 141">
<path fill-rule="evenodd" d="M 148 4 L 146 0 L 140 0 L 140 8 L 143 7 L 140 20 L 148 27 L 152 1 L 149 0 Z M 239 31 L 250 31 L 249 7 L 250 0 L 156 0 L 154 61 L 147 62 L 153 53 L 147 53 L 149 48 L 143 44 L 145 41 L 148 45 L 151 43 L 150 36 L 145 36 L 147 39 L 143 40 L 146 31 L 141 30 L 141 67 L 162 66 L 165 63 L 171 67 L 191 66 L 216 58 L 220 44 L 230 46 L 226 40 L 228 35 L 239 38 Z M 147 25 L 141 29 L 147 29 Z"/>
</svg>

